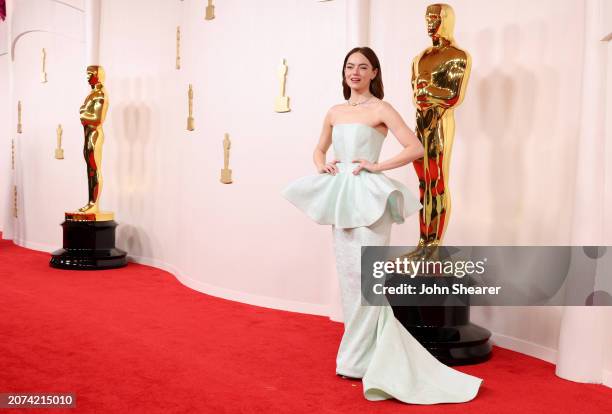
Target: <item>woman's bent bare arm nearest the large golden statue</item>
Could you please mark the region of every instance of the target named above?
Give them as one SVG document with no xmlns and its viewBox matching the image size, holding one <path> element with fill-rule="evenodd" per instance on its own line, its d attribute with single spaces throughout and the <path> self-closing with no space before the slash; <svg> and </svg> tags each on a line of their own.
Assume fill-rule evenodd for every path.
<svg viewBox="0 0 612 414">
<path fill-rule="evenodd" d="M 355 162 L 359 162 L 360 165 L 353 171 L 353 174 L 359 174 L 359 171 L 363 169 L 370 172 L 392 170 L 410 164 L 412 161 L 423 157 L 423 145 L 414 132 L 408 128 L 408 125 L 406 125 L 401 115 L 387 102 L 382 102 L 380 120 L 387 125 L 391 132 L 393 132 L 393 135 L 395 135 L 404 149 L 395 157 L 380 163 L 371 163 L 367 160 L 355 160 Z"/>
</svg>

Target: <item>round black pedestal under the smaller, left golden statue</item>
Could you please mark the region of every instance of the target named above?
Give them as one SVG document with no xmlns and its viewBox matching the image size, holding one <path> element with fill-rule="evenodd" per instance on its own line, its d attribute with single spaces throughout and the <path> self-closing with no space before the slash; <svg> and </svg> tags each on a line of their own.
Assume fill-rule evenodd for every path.
<svg viewBox="0 0 612 414">
<path fill-rule="evenodd" d="M 74 270 L 113 269 L 127 265 L 126 252 L 115 248 L 116 227 L 114 220 L 64 221 L 64 248 L 51 253 L 49 264 Z"/>
</svg>

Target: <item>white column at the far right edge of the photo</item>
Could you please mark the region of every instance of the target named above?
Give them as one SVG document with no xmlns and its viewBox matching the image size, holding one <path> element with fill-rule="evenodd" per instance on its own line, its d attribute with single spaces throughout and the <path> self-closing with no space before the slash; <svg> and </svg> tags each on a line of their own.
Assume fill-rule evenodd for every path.
<svg viewBox="0 0 612 414">
<path fill-rule="evenodd" d="M 578 162 L 574 192 L 573 245 L 603 243 L 605 188 L 606 44 L 600 39 L 601 0 L 585 3 L 585 40 Z M 606 308 L 564 308 L 556 374 L 578 382 L 602 382 Z"/>
</svg>

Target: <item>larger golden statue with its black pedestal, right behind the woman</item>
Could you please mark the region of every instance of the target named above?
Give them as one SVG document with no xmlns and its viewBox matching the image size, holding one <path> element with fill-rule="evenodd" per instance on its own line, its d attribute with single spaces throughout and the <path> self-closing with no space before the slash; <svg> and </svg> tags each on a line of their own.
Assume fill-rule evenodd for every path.
<svg viewBox="0 0 612 414">
<path fill-rule="evenodd" d="M 425 21 L 432 45 L 412 63 L 416 135 L 425 148 L 423 158 L 413 162 L 423 209 L 419 215 L 419 244 L 405 255 L 412 260 L 438 260 L 444 255 L 439 254 L 438 247 L 450 214 L 448 168 L 455 132 L 453 110 L 463 100 L 471 68 L 470 56 L 453 39 L 453 9 L 447 4 L 432 4 L 427 7 Z M 431 276 L 440 277 L 422 275 L 421 280 L 431 283 Z M 403 306 L 393 311 L 406 329 L 445 364 L 478 363 L 491 356 L 491 332 L 470 322 L 469 306 Z"/>
</svg>

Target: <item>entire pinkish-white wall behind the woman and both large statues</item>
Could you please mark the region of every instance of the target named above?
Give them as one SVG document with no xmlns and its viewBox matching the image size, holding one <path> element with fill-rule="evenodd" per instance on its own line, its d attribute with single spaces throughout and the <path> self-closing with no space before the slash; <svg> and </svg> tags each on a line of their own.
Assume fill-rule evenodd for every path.
<svg viewBox="0 0 612 414">
<path fill-rule="evenodd" d="M 31 1 L 18 2 L 15 11 L 28 16 Z M 119 247 L 203 292 L 332 312 L 337 294 L 330 229 L 313 224 L 279 193 L 292 179 L 314 173 L 311 156 L 323 116 L 342 100 L 342 59 L 355 46 L 346 38 L 352 1 L 226 0 L 217 4 L 213 21 L 203 20 L 201 1 L 159 1 L 155 7 L 145 0 L 103 1 L 100 61 L 110 109 L 102 205 L 116 213 Z M 423 21 L 429 2 L 358 3 L 369 3 L 369 39 L 381 59 L 386 99 L 413 125 L 410 63 L 429 44 Z M 471 53 L 473 69 L 456 112 L 446 243 L 571 244 L 585 3 L 449 3 L 458 44 Z M 16 226 L 5 221 L 5 236 L 14 229 L 19 244 L 43 250 L 61 245 L 63 212 L 85 202 L 78 107 L 87 84 L 83 26 L 76 17 L 83 4 L 71 6 L 48 10 L 62 27 L 24 36 L 13 63 L 10 107 L 24 102 L 17 174 L 23 213 Z M 177 25 L 180 71 L 174 68 Z M 45 85 L 38 82 L 42 47 L 48 51 Z M 273 112 L 282 58 L 289 65 L 288 114 Z M 185 130 L 190 83 L 194 132 Z M 60 122 L 63 161 L 53 159 Z M 225 132 L 232 139 L 232 185 L 219 183 Z M 2 148 L 10 150 L 10 140 Z M 399 150 L 390 135 L 382 157 Z M 416 193 L 412 167 L 389 175 Z M 416 217 L 394 232 L 394 244 L 413 244 Z M 473 313 L 501 345 L 555 359 L 560 309 Z"/>
</svg>

